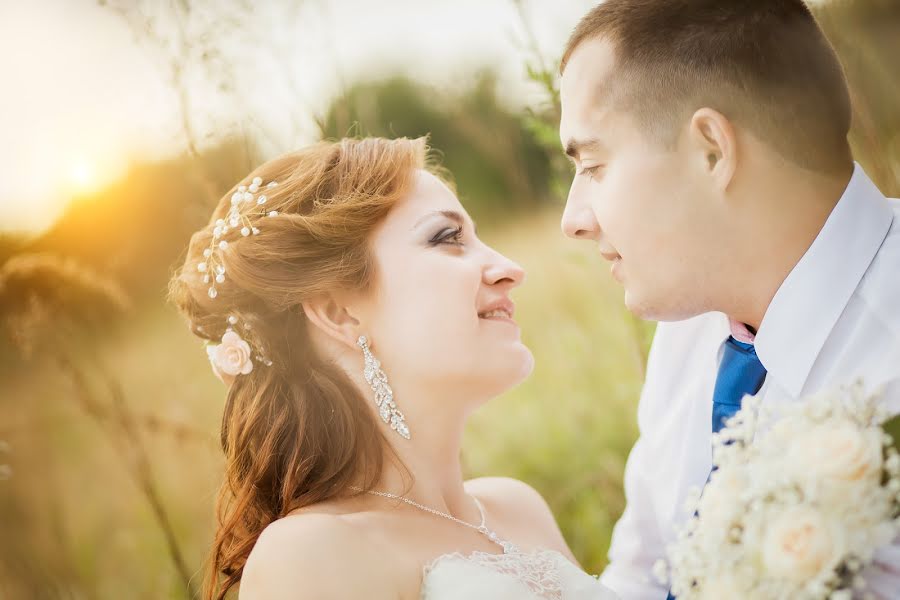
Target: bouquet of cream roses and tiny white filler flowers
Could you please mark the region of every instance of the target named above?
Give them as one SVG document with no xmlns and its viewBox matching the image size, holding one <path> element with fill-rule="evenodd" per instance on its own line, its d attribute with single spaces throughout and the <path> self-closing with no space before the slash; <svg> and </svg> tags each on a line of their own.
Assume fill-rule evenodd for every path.
<svg viewBox="0 0 900 600">
<path fill-rule="evenodd" d="M 900 418 L 862 382 L 780 410 L 745 398 L 657 565 L 679 600 L 844 599 L 900 534 Z M 668 573 L 666 573 L 668 571 Z"/>
</svg>

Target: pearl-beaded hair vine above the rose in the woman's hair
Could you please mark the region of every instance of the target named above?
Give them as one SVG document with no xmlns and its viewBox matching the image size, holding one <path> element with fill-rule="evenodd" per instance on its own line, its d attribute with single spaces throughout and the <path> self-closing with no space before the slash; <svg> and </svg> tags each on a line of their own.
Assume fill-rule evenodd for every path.
<svg viewBox="0 0 900 600">
<path fill-rule="evenodd" d="M 276 181 L 270 181 L 265 189 L 271 189 L 278 185 Z M 225 234 L 231 230 L 240 227 L 241 237 L 250 235 L 259 235 L 259 228 L 256 227 L 251 217 L 275 217 L 278 216 L 276 210 L 265 210 L 265 204 L 268 198 L 265 194 L 256 195 L 262 189 L 262 178 L 254 177 L 249 186 L 238 186 L 237 191 L 231 195 L 231 208 L 224 219 L 216 220 L 213 236 L 210 239 L 209 247 L 203 251 L 203 261 L 197 263 L 197 270 L 203 273 L 203 283 L 211 284 L 207 290 L 210 298 L 219 295 L 216 289 L 217 283 L 225 281 L 225 261 L 222 252 L 228 248 L 228 240 L 224 239 Z M 254 202 L 256 200 L 256 202 Z M 251 206 L 256 210 L 245 210 L 245 207 Z"/>
</svg>

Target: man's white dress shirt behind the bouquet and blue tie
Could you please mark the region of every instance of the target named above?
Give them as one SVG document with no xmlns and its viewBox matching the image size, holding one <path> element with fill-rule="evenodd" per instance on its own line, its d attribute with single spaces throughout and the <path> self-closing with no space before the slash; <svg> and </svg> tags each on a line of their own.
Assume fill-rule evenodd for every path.
<svg viewBox="0 0 900 600">
<path fill-rule="evenodd" d="M 651 570 L 689 516 L 688 491 L 709 475 L 713 387 L 729 335 L 721 313 L 657 328 L 638 406 L 640 438 L 625 468 L 627 506 L 601 578 L 624 600 L 666 598 Z M 900 200 L 885 198 L 858 164 L 775 294 L 756 352 L 768 371 L 763 403 L 793 402 L 857 376 L 868 386 L 900 377 Z M 900 412 L 900 403 L 891 408 Z M 900 597 L 900 546 L 880 553 L 867 579 L 882 597 Z"/>
</svg>

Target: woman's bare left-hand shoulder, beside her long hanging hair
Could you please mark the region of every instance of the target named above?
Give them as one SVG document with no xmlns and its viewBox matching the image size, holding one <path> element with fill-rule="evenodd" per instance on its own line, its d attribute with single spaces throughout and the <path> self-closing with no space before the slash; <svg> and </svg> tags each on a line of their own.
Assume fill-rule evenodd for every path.
<svg viewBox="0 0 900 600">
<path fill-rule="evenodd" d="M 240 600 L 388 598 L 378 548 L 341 515 L 301 513 L 272 522 L 253 546 Z"/>
</svg>

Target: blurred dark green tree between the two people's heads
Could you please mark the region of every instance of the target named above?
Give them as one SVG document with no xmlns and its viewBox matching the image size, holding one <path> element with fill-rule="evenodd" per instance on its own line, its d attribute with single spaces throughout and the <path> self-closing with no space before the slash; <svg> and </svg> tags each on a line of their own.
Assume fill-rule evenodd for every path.
<svg viewBox="0 0 900 600">
<path fill-rule="evenodd" d="M 346 135 L 429 135 L 441 164 L 458 184 L 473 218 L 490 224 L 545 207 L 550 193 L 550 149 L 498 98 L 496 75 L 482 71 L 455 92 L 403 77 L 360 82 L 331 105 L 326 138 Z"/>
</svg>

